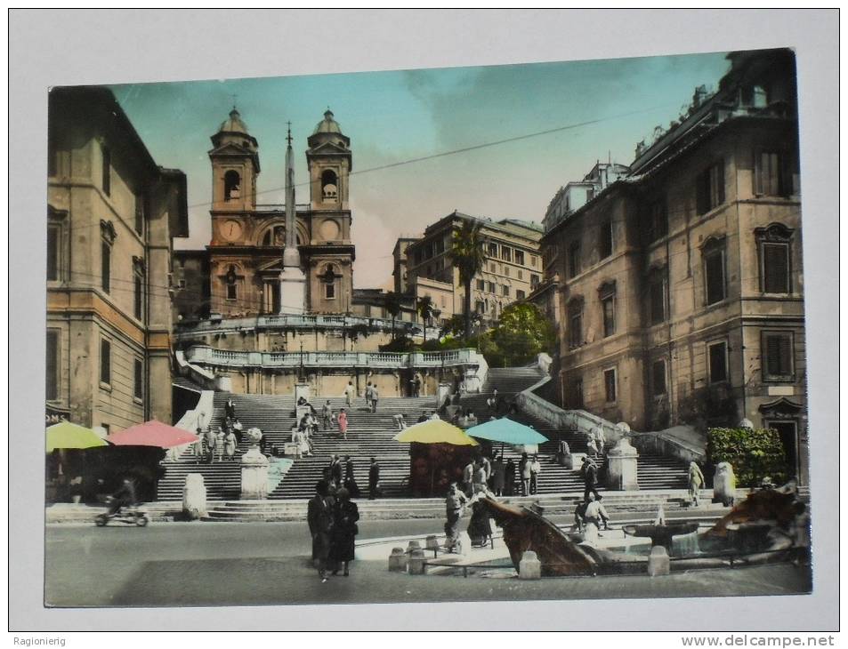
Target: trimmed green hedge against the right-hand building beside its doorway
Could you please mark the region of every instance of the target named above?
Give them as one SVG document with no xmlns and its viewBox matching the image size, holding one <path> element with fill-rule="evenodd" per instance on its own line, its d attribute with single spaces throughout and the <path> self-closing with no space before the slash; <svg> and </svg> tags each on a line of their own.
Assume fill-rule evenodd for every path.
<svg viewBox="0 0 848 649">
<path fill-rule="evenodd" d="M 713 465 L 730 462 L 741 487 L 759 485 L 763 477 L 771 477 L 776 485 L 788 479 L 786 453 L 776 430 L 709 429 L 707 456 Z"/>
</svg>

